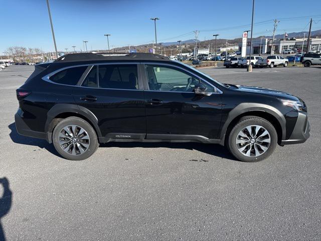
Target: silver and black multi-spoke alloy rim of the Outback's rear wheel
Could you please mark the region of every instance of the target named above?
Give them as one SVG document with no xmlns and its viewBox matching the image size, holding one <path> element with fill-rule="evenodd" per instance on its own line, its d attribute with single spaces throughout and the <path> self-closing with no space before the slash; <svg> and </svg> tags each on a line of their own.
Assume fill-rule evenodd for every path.
<svg viewBox="0 0 321 241">
<path fill-rule="evenodd" d="M 59 132 L 59 145 L 70 155 L 81 155 L 85 153 L 90 144 L 90 138 L 85 129 L 69 125 Z"/>
</svg>

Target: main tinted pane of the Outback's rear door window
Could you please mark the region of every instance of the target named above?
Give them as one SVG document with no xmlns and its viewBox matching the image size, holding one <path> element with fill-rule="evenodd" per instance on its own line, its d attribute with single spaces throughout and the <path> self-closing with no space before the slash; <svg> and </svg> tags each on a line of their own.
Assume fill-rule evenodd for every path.
<svg viewBox="0 0 321 241">
<path fill-rule="evenodd" d="M 99 88 L 138 89 L 136 64 L 98 65 Z"/>
</svg>

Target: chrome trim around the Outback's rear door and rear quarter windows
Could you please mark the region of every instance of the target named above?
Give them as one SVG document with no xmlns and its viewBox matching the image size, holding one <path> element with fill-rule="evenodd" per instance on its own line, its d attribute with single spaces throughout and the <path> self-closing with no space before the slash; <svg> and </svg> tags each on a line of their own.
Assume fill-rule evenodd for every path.
<svg viewBox="0 0 321 241">
<path fill-rule="evenodd" d="M 72 87 L 91 88 L 91 89 L 115 89 L 115 88 L 99 88 L 99 87 L 81 86 L 83 80 L 87 77 L 87 75 L 88 75 L 88 73 L 89 73 L 90 71 L 87 73 L 87 75 L 86 75 L 85 78 L 82 80 L 82 82 L 81 82 L 80 85 L 78 85 L 78 82 L 79 82 L 79 80 L 81 79 L 82 76 L 79 78 L 79 80 L 78 80 L 78 82 L 77 82 L 76 85 L 61 84 L 61 83 L 56 83 L 56 82 L 50 80 L 50 77 L 51 77 L 51 76 L 53 76 L 54 74 L 56 74 L 56 73 L 58 73 L 58 72 L 60 72 L 60 71 L 65 70 L 65 69 L 74 68 L 74 67 L 82 67 L 82 66 L 107 65 L 107 64 L 135 64 L 135 65 L 137 66 L 137 73 L 138 73 L 138 65 L 140 64 L 140 62 L 110 62 L 110 63 L 104 62 L 104 63 L 90 63 L 90 64 L 70 65 L 70 66 L 66 66 L 66 67 L 57 69 L 57 70 L 55 70 L 55 71 L 53 71 L 53 72 L 51 72 L 51 73 L 43 76 L 43 77 L 42 77 L 42 80 L 47 81 L 47 82 L 49 82 L 49 83 L 51 83 L 51 84 L 58 84 L 58 85 L 65 85 L 65 86 L 72 86 Z M 85 70 L 85 71 L 86 71 L 86 70 Z M 85 71 L 84 71 L 84 72 L 85 72 Z M 141 91 L 142 91 L 142 89 L 116 89 L 116 90 L 141 90 Z"/>
</svg>

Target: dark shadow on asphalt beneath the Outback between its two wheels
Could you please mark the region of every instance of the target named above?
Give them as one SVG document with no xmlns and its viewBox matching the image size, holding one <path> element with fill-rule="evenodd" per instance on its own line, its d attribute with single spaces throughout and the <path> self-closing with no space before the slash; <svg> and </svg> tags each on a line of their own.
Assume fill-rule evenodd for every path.
<svg viewBox="0 0 321 241">
<path fill-rule="evenodd" d="M 223 146 L 218 144 L 203 144 L 203 143 L 170 143 L 170 142 L 155 142 L 155 143 L 146 143 L 146 142 L 108 142 L 100 144 L 102 148 L 108 147 L 118 147 L 118 148 L 169 148 L 169 149 L 186 149 L 186 150 L 196 150 L 209 154 L 212 156 L 230 159 L 233 161 L 238 161 L 233 157 L 230 152 Z M 174 150 L 173 150 L 174 151 Z M 187 158 L 189 158 L 187 156 Z M 201 159 L 200 159 L 201 160 Z"/>
</svg>

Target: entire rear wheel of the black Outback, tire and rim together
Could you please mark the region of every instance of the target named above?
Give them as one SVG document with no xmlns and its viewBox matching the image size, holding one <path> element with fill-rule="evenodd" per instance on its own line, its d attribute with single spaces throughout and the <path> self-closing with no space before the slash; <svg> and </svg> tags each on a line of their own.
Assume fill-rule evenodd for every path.
<svg viewBox="0 0 321 241">
<path fill-rule="evenodd" d="M 53 131 L 52 141 L 62 157 L 74 161 L 90 157 L 99 146 L 92 126 L 76 116 L 58 123 Z"/>
</svg>

